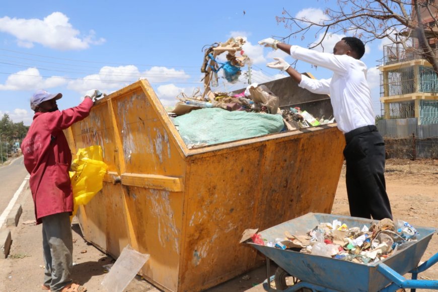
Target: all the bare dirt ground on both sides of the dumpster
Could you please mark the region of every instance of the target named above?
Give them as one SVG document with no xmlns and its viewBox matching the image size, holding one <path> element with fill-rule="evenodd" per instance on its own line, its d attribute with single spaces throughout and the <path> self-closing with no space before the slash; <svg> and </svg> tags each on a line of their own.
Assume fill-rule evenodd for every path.
<svg viewBox="0 0 438 292">
<path fill-rule="evenodd" d="M 387 160 L 386 183 L 395 219 L 407 221 L 414 227 L 438 229 L 438 160 Z M 29 192 L 29 189 L 26 191 Z M 30 192 L 24 194 L 21 204 L 23 215 L 19 226 L 12 230 L 14 242 L 11 256 L 6 260 L 0 260 L 0 291 L 42 291 L 40 284 L 44 263 L 40 244 L 41 226 L 29 224 L 34 220 Z M 339 179 L 332 213 L 349 215 L 345 168 Z M 87 286 L 89 291 L 104 291 L 100 285 L 106 274 L 103 266 L 114 260 L 85 242 L 75 221 L 73 237 L 75 280 Z M 435 234 L 422 261 L 437 252 L 438 235 Z M 271 272 L 274 272 L 274 269 L 275 267 L 272 267 Z M 260 283 L 266 278 L 265 271 L 261 266 L 208 291 L 264 291 Z M 438 264 L 419 274 L 419 278 L 438 279 Z M 158 290 L 137 276 L 124 291 Z"/>
</svg>

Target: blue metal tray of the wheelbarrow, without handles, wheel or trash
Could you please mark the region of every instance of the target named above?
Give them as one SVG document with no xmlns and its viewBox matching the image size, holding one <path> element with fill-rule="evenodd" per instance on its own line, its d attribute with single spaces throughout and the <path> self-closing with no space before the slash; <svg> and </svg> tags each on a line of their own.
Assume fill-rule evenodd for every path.
<svg viewBox="0 0 438 292">
<path fill-rule="evenodd" d="M 378 222 L 343 215 L 307 213 L 266 229 L 260 232 L 260 235 L 268 241 L 274 241 L 276 238 L 284 238 L 285 231 L 293 235 L 306 234 L 320 223 L 331 223 L 333 220 L 345 223 L 348 228 L 362 228 L 363 225 L 370 227 L 372 223 Z M 291 250 L 281 250 L 254 243 L 249 244 L 273 260 L 290 275 L 302 281 L 340 291 L 378 291 L 391 282 L 377 270 L 380 263 L 385 263 L 400 275 L 418 266 L 432 235 L 435 233 L 435 229 L 417 226 L 415 226 L 415 229 L 419 232 L 417 242 L 384 260 L 370 264 L 360 264 Z"/>
</svg>

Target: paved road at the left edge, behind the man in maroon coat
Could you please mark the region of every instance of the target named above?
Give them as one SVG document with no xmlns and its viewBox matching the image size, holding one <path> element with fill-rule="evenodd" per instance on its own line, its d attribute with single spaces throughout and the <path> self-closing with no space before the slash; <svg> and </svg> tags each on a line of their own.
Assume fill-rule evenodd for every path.
<svg viewBox="0 0 438 292">
<path fill-rule="evenodd" d="M 28 172 L 23 164 L 23 156 L 14 159 L 9 165 L 0 167 L 0 214 L 3 214 L 27 176 Z"/>
</svg>

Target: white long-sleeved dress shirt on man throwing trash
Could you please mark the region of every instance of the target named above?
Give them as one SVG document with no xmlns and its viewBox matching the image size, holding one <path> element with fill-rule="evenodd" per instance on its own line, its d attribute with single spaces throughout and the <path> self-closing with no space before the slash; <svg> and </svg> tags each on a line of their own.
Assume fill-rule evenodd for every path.
<svg viewBox="0 0 438 292">
<path fill-rule="evenodd" d="M 313 93 L 330 94 L 333 116 L 342 132 L 375 124 L 367 66 L 362 61 L 300 46 L 291 46 L 290 55 L 333 71 L 331 79 L 315 80 L 302 75 L 299 86 Z"/>
</svg>

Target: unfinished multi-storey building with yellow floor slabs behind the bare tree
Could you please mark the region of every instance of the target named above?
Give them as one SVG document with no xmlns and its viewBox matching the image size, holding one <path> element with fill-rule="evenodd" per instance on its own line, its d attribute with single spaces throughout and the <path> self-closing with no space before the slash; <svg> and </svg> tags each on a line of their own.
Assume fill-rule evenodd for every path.
<svg viewBox="0 0 438 292">
<path fill-rule="evenodd" d="M 430 8 L 430 6 L 429 6 Z M 438 28 L 430 13 L 421 10 L 427 41 L 438 56 Z M 417 118 L 419 125 L 438 123 L 438 78 L 419 52 L 415 32 L 407 32 L 410 45 L 384 46 L 381 70 L 381 102 L 385 119 Z"/>
</svg>

